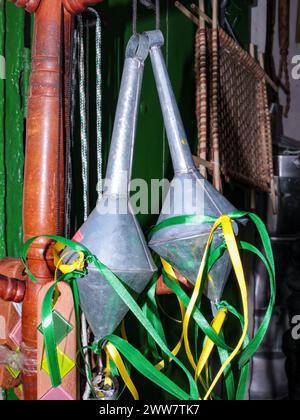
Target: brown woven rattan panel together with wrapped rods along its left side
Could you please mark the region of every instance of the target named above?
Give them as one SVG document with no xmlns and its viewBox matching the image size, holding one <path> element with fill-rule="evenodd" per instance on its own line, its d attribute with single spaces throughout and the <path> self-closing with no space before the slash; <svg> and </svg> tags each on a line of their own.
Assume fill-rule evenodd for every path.
<svg viewBox="0 0 300 420">
<path fill-rule="evenodd" d="M 222 29 L 207 28 L 196 37 L 196 74 L 198 155 L 214 162 L 214 183 L 221 172 L 226 181 L 273 193 L 264 70 Z"/>
</svg>

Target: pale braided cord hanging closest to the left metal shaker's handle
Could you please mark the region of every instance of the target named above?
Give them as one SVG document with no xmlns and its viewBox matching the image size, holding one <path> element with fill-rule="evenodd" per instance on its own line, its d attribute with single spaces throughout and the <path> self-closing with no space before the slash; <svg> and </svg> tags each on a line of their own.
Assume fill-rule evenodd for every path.
<svg viewBox="0 0 300 420">
<path fill-rule="evenodd" d="M 101 34 L 101 17 L 99 13 L 92 9 L 88 8 L 88 11 L 93 13 L 96 16 L 96 124 L 97 124 L 97 192 L 98 196 L 101 197 L 103 185 L 102 185 L 102 147 L 103 147 L 103 137 L 102 137 L 102 34 Z"/>
</svg>

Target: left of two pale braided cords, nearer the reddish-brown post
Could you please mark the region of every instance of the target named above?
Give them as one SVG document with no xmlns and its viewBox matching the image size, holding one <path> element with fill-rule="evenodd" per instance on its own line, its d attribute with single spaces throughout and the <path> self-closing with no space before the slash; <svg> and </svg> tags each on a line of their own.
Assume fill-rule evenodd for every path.
<svg viewBox="0 0 300 420">
<path fill-rule="evenodd" d="M 78 15 L 78 46 L 79 46 L 79 102 L 80 102 L 80 134 L 81 134 L 81 160 L 82 160 L 82 183 L 83 183 L 83 217 L 88 218 L 89 194 L 88 194 L 88 142 L 87 142 L 87 110 L 85 95 L 85 55 L 84 55 L 84 30 L 82 15 Z"/>
</svg>

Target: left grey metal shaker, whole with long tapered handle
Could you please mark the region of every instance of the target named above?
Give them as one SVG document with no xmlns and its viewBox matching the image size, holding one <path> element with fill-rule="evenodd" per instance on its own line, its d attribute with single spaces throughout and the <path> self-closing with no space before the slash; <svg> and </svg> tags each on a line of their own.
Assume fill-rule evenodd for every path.
<svg viewBox="0 0 300 420">
<path fill-rule="evenodd" d="M 129 41 L 116 111 L 104 193 L 75 239 L 112 270 L 133 295 L 146 287 L 156 271 L 144 235 L 134 216 L 128 184 L 144 61 L 148 40 L 135 35 Z M 72 258 L 76 258 L 74 255 Z M 111 334 L 128 308 L 93 265 L 78 280 L 80 304 L 96 340 Z"/>
</svg>

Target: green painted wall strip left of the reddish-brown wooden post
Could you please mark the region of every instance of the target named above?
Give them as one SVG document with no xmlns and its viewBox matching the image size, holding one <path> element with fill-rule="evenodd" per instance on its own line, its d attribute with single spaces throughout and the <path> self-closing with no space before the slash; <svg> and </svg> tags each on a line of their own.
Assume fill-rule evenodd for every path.
<svg viewBox="0 0 300 420">
<path fill-rule="evenodd" d="M 6 60 L 6 80 L 0 81 L 0 257 L 3 257 L 19 256 L 22 246 L 24 86 L 28 86 L 30 59 L 24 49 L 24 11 L 9 1 L 0 3 L 0 51 Z"/>
</svg>

